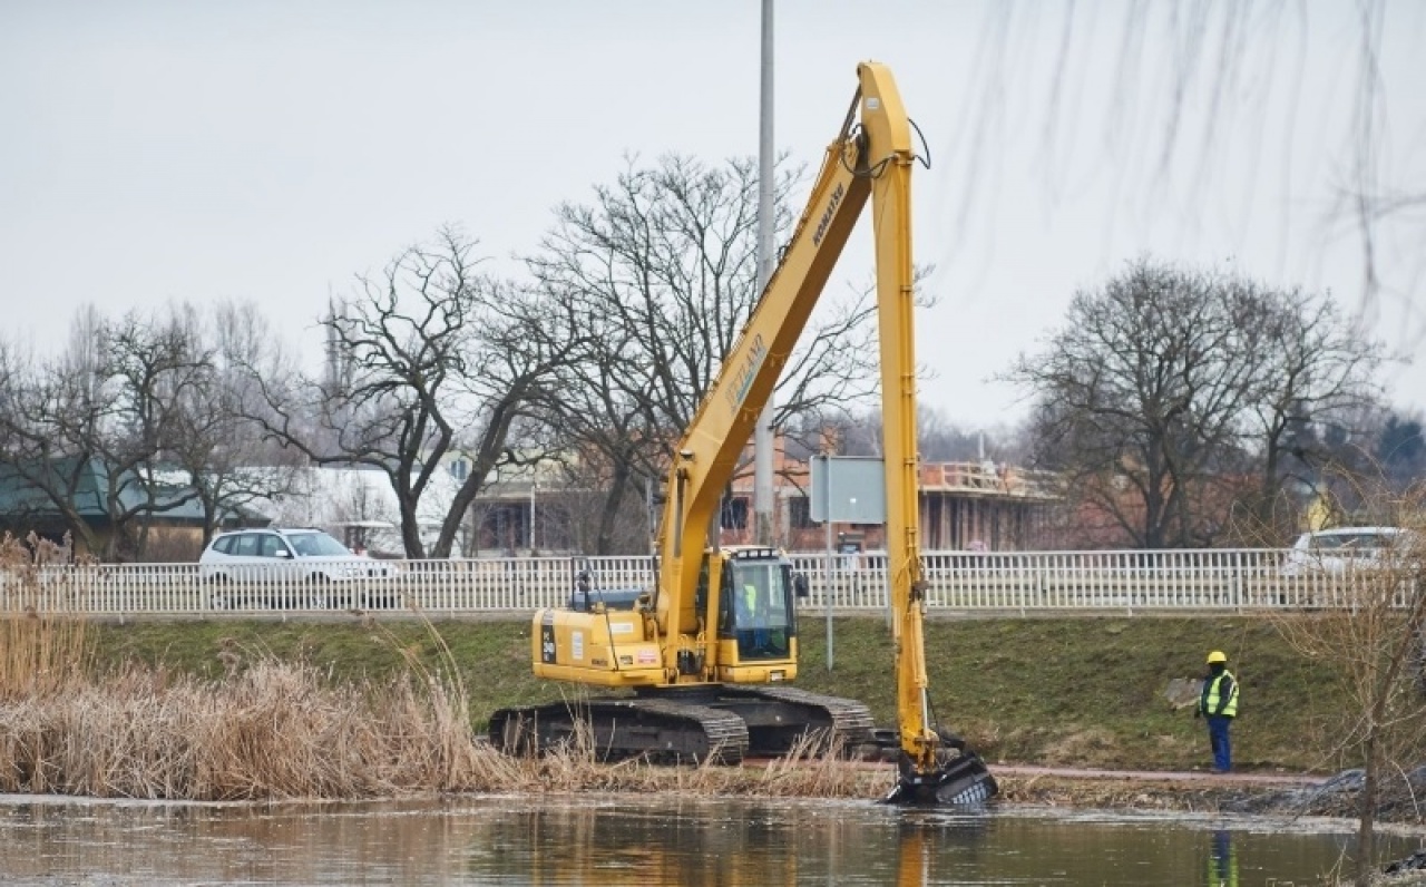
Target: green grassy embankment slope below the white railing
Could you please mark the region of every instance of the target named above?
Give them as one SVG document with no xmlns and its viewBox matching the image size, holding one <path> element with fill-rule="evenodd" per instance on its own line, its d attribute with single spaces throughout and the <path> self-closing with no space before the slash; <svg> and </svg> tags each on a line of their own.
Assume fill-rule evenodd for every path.
<svg viewBox="0 0 1426 887">
<path fill-rule="evenodd" d="M 321 683 L 378 687 L 414 666 L 453 663 L 483 726 L 508 704 L 560 699 L 568 687 L 536 680 L 529 623 L 441 622 L 141 622 L 93 625 L 100 673 L 135 663 L 168 676 L 241 676 L 270 659 L 311 666 Z M 868 703 L 894 723 L 891 646 L 876 617 L 836 622 L 836 669 L 826 669 L 821 622 L 804 625 L 797 685 Z M 448 647 L 449 652 L 443 650 Z M 1330 771 L 1319 750 L 1338 700 L 1323 666 L 1308 663 L 1259 616 L 934 619 L 927 626 L 933 700 L 943 723 L 988 762 L 1175 770 L 1206 766 L 1202 722 L 1165 699 L 1172 677 L 1196 677 L 1204 655 L 1224 649 L 1243 686 L 1235 726 L 1242 769 Z"/>
</svg>

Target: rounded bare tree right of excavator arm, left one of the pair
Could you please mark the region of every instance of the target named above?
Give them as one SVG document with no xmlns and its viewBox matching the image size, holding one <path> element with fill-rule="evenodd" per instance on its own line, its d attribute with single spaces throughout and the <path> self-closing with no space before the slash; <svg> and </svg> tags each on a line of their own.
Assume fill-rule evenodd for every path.
<svg viewBox="0 0 1426 887">
<path fill-rule="evenodd" d="M 1248 394 L 1252 364 L 1222 292 L 1139 261 L 1077 292 L 1048 348 L 1008 376 L 1041 404 L 1037 462 L 1141 548 L 1189 542 L 1191 488 L 1231 445 Z"/>
</svg>

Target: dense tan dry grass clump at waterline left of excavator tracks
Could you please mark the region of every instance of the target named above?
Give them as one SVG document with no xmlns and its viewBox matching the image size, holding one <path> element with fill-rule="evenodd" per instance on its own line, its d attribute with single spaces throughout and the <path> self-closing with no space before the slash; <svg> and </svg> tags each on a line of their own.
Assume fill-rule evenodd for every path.
<svg viewBox="0 0 1426 887">
<path fill-rule="evenodd" d="M 481 786 L 439 687 L 327 686 L 258 662 L 217 683 L 127 670 L 0 703 L 0 791 L 151 799 L 372 797 Z"/>
</svg>

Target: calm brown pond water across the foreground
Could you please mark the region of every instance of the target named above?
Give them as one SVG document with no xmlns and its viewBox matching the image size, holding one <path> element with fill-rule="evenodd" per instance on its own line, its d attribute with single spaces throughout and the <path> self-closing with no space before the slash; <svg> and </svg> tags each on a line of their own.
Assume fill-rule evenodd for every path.
<svg viewBox="0 0 1426 887">
<path fill-rule="evenodd" d="M 7 883 L 1262 884 L 1309 883 L 1340 831 L 856 801 L 456 797 L 158 806 L 0 799 Z M 1405 856 L 1409 841 L 1383 853 Z M 1204 878 L 1199 881 L 1199 878 Z"/>
</svg>

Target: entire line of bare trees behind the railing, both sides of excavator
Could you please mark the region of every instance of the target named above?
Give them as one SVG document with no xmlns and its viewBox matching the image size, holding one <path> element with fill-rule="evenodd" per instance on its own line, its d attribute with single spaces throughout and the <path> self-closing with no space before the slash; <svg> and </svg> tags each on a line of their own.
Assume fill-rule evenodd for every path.
<svg viewBox="0 0 1426 887">
<path fill-rule="evenodd" d="M 779 173 L 784 237 L 799 180 Z M 359 466 L 389 483 L 405 553 L 443 558 L 496 473 L 539 461 L 575 491 L 563 513 L 583 550 L 645 552 L 669 451 L 759 298 L 756 193 L 747 160 L 630 163 L 556 208 L 519 280 L 443 228 L 312 318 L 321 361 L 284 349 L 251 304 L 88 308 L 51 355 L 3 341 L 0 471 L 27 489 L 10 518 L 58 513 L 124 559 L 165 511 L 197 503 L 211 533 L 294 492 L 297 466 Z M 870 285 L 819 304 L 776 394 L 793 455 L 877 452 L 874 311 Z M 921 456 L 1054 469 L 1079 545 L 1224 543 L 1238 515 L 1295 523 L 1283 502 L 1329 475 L 1420 475 L 1422 426 L 1380 405 L 1382 359 L 1328 297 L 1141 261 L 1077 294 L 1045 352 L 1007 371 L 1040 404 L 1025 428 L 923 411 Z M 468 471 L 424 533 L 452 458 Z M 84 496 L 114 532 L 96 535 Z"/>
</svg>

